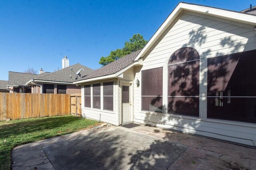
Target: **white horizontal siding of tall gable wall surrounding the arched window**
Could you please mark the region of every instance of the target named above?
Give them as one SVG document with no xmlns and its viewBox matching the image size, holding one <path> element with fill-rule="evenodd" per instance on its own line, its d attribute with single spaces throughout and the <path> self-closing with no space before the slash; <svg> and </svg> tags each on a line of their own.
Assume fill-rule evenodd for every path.
<svg viewBox="0 0 256 170">
<path fill-rule="evenodd" d="M 201 66 L 207 65 L 206 58 L 238 53 L 256 49 L 256 37 L 251 25 L 241 25 L 218 18 L 204 18 L 197 14 L 183 14 L 158 42 L 151 52 L 144 57 L 143 67 L 134 68 L 134 80 L 141 82 L 141 70 L 163 66 L 163 87 L 167 83 L 167 61 L 174 51 L 181 47 L 194 47 L 201 56 Z M 205 70 L 202 69 L 200 88 L 205 86 Z M 205 91 L 201 91 L 205 96 Z M 164 90 L 163 99 L 167 99 Z M 221 121 L 206 118 L 206 98 L 202 98 L 200 118 L 150 113 L 141 111 L 141 86 L 134 84 L 134 121 L 174 129 L 184 133 L 193 133 L 218 139 L 252 145 L 256 144 L 256 125 L 234 121 Z M 163 101 L 164 104 L 167 104 Z M 167 110 L 167 106 L 164 105 Z M 243 138 L 243 139 L 240 139 Z M 248 139 L 248 140 L 245 140 Z"/>
</svg>

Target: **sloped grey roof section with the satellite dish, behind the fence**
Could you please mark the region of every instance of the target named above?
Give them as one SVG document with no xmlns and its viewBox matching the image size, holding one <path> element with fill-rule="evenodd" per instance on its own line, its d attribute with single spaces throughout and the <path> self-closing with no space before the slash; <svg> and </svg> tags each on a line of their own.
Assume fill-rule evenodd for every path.
<svg viewBox="0 0 256 170">
<path fill-rule="evenodd" d="M 79 78 L 79 76 L 78 76 L 78 80 L 81 80 L 84 76 L 86 76 L 94 71 L 91 68 L 88 68 L 86 66 L 83 66 L 82 64 L 77 63 L 72 66 L 68 66 L 66 68 L 62 68 L 58 71 L 47 74 L 45 76 L 40 76 L 38 78 L 30 78 L 30 79 L 36 79 L 37 82 L 40 82 L 40 80 L 45 80 L 45 81 L 72 83 L 72 82 L 74 82 L 74 80 L 72 78 L 70 78 L 70 75 L 72 75 L 72 77 L 75 78 L 76 74 L 72 70 L 70 70 L 70 68 L 73 68 L 74 72 L 77 72 L 81 68 L 84 69 L 84 70 L 81 70 L 81 72 L 80 72 L 81 78 Z M 28 80 L 26 82 L 28 82 Z"/>
</svg>

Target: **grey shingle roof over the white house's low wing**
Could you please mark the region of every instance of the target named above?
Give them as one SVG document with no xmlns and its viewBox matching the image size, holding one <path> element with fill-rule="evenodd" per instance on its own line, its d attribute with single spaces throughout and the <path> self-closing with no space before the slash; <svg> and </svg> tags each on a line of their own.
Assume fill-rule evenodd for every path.
<svg viewBox="0 0 256 170">
<path fill-rule="evenodd" d="M 88 74 L 86 77 L 81 78 L 76 81 L 114 74 L 114 73 L 122 70 L 122 68 L 131 64 L 134 61 L 134 59 L 137 57 L 137 55 L 140 53 L 140 51 L 141 51 L 141 49 L 138 51 L 135 51 L 133 53 L 130 53 L 130 54 L 128 54 L 110 64 L 107 64 L 107 65 L 99 68 L 98 70 L 95 70 L 94 72 Z"/>
</svg>

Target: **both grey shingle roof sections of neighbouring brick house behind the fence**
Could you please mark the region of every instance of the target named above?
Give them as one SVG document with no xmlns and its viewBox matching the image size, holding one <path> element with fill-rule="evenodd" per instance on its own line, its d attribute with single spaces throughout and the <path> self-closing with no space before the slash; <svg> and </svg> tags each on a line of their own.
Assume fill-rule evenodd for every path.
<svg viewBox="0 0 256 170">
<path fill-rule="evenodd" d="M 66 68 L 62 68 L 55 72 L 44 72 L 42 74 L 29 74 L 24 72 L 12 72 L 9 71 L 9 85 L 24 85 L 26 82 L 28 82 L 31 79 L 36 80 L 46 80 L 46 81 L 57 81 L 57 82 L 73 82 L 74 80 L 70 78 L 70 75 L 72 75 L 73 78 L 76 77 L 76 74 L 70 70 L 70 68 L 73 68 L 74 72 L 77 72 L 81 68 L 84 68 L 80 72 L 81 77 L 86 76 L 87 74 L 93 72 L 91 68 L 88 68 L 86 66 L 83 66 L 82 64 L 74 64 L 72 66 L 68 66 Z M 78 79 L 80 77 L 78 76 Z"/>
</svg>

